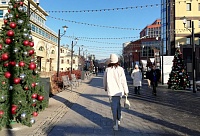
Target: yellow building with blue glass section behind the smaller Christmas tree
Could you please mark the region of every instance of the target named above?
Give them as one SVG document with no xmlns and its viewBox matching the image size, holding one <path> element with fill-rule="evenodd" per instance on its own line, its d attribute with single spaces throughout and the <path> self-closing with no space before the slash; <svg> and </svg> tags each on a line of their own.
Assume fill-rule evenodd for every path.
<svg viewBox="0 0 200 136">
<path fill-rule="evenodd" d="M 192 22 L 194 23 L 195 69 L 200 74 L 200 1 L 161 0 L 161 22 L 163 44 L 166 55 L 173 56 L 178 46 L 191 77 L 192 69 Z M 181 9 L 181 10 L 180 10 Z M 183 17 L 187 22 L 183 23 Z"/>
</svg>

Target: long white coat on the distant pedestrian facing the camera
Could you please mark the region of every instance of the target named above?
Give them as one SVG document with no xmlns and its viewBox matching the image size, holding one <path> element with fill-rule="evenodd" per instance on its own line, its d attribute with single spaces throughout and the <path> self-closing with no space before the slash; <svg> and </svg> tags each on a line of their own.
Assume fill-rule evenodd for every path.
<svg viewBox="0 0 200 136">
<path fill-rule="evenodd" d="M 134 69 L 131 78 L 133 79 L 133 86 L 142 86 L 142 72 L 140 69 Z"/>
</svg>

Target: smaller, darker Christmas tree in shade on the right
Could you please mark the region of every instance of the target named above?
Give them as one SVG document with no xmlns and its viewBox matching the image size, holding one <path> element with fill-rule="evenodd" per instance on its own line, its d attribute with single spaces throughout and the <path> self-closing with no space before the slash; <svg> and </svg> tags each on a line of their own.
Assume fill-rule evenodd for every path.
<svg viewBox="0 0 200 136">
<path fill-rule="evenodd" d="M 186 72 L 186 66 L 179 47 L 176 49 L 174 55 L 173 66 L 167 84 L 168 88 L 175 90 L 190 88 L 188 73 Z"/>
</svg>

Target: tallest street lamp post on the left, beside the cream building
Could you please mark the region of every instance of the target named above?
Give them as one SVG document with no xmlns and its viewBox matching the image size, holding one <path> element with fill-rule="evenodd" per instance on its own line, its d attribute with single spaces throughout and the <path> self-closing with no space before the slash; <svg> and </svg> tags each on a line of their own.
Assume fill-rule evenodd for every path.
<svg viewBox="0 0 200 136">
<path fill-rule="evenodd" d="M 58 60 L 57 60 L 57 77 L 59 76 L 59 71 L 60 71 L 60 39 L 63 35 L 65 35 L 67 26 L 63 26 L 64 33 L 61 35 L 60 34 L 60 29 L 58 30 Z"/>
</svg>

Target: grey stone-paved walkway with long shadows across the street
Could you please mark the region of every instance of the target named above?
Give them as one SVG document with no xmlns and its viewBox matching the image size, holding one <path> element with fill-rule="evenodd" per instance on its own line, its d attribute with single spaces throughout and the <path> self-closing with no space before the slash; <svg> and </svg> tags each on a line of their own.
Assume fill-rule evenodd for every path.
<svg viewBox="0 0 200 136">
<path fill-rule="evenodd" d="M 144 80 L 141 95 L 129 84 L 129 110 L 122 108 L 119 131 L 113 130 L 112 113 L 102 74 L 76 89 L 52 97 L 49 107 L 33 127 L 17 126 L 0 131 L 2 136 L 198 136 L 200 135 L 200 92 L 170 90 L 159 85 L 157 96 Z M 124 98 L 122 98 L 122 105 Z"/>
</svg>

